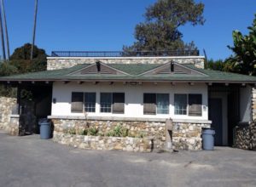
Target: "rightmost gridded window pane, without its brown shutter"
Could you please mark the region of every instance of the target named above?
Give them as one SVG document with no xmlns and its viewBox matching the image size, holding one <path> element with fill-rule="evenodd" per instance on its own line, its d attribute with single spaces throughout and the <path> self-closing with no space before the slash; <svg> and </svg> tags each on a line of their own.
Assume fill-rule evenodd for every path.
<svg viewBox="0 0 256 187">
<path fill-rule="evenodd" d="M 187 115 L 187 94 L 174 94 L 174 114 Z"/>
</svg>

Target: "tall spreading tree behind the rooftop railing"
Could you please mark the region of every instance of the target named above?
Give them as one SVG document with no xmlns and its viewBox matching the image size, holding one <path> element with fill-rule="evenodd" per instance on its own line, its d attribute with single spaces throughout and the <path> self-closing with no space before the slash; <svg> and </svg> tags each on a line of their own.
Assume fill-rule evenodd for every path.
<svg viewBox="0 0 256 187">
<path fill-rule="evenodd" d="M 194 42 L 184 43 L 180 26 L 203 25 L 203 3 L 194 0 L 158 0 L 146 9 L 145 22 L 135 28 L 136 42 L 124 51 L 172 51 L 196 49 Z"/>
</svg>

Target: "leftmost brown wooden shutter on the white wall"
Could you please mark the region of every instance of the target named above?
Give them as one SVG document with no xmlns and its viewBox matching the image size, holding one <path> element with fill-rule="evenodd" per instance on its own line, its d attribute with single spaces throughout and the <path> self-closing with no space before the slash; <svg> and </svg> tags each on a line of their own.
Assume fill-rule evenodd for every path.
<svg viewBox="0 0 256 187">
<path fill-rule="evenodd" d="M 73 92 L 71 96 L 71 112 L 83 112 L 84 93 Z"/>
</svg>

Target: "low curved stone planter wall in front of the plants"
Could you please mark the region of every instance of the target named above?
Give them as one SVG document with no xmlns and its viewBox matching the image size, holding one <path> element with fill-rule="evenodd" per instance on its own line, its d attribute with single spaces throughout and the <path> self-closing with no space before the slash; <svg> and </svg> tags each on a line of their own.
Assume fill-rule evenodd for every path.
<svg viewBox="0 0 256 187">
<path fill-rule="evenodd" d="M 89 150 L 125 150 L 150 152 L 151 140 L 131 137 L 84 136 L 67 133 L 54 133 L 53 140 L 60 144 Z"/>
</svg>

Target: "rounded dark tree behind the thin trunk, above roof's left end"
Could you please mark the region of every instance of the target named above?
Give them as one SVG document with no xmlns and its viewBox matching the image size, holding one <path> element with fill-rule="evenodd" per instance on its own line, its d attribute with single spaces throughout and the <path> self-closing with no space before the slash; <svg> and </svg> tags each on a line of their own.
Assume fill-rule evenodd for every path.
<svg viewBox="0 0 256 187">
<path fill-rule="evenodd" d="M 34 46 L 33 59 L 30 59 L 32 44 L 26 43 L 10 56 L 10 64 L 15 65 L 20 73 L 45 71 L 46 57 L 44 49 Z"/>
</svg>

